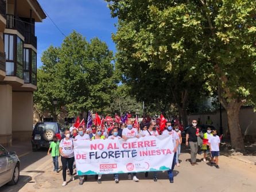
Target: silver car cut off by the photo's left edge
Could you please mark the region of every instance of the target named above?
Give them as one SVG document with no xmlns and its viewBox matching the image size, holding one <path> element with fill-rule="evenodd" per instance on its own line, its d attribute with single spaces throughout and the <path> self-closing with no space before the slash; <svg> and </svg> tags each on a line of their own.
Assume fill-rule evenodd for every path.
<svg viewBox="0 0 256 192">
<path fill-rule="evenodd" d="M 0 187 L 6 183 L 15 185 L 20 177 L 20 159 L 16 152 L 8 152 L 0 144 Z"/>
</svg>

